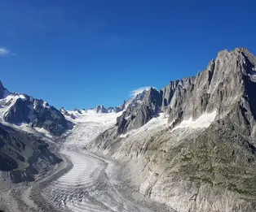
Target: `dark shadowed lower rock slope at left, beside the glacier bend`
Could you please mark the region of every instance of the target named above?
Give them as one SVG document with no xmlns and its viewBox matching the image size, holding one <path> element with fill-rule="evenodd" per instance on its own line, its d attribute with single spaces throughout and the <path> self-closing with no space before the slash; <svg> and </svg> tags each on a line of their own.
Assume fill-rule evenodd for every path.
<svg viewBox="0 0 256 212">
<path fill-rule="evenodd" d="M 0 171 L 3 180 L 14 183 L 34 180 L 33 175 L 62 160 L 52 154 L 44 141 L 25 132 L 0 126 Z"/>
</svg>

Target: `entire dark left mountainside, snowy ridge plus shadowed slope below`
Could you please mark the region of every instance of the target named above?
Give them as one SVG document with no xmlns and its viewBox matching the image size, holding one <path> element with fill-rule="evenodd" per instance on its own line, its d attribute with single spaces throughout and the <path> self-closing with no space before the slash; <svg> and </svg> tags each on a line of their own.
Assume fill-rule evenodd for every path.
<svg viewBox="0 0 256 212">
<path fill-rule="evenodd" d="M 0 180 L 33 181 L 61 162 L 44 136 L 68 129 L 60 110 L 25 94 L 10 93 L 0 82 Z"/>
</svg>

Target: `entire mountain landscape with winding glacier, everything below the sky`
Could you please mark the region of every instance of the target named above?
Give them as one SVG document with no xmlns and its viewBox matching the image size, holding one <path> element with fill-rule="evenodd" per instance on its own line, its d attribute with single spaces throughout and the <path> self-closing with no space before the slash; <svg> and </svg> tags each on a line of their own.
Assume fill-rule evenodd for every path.
<svg viewBox="0 0 256 212">
<path fill-rule="evenodd" d="M 0 210 L 256 211 L 255 90 L 245 48 L 108 108 L 0 83 Z"/>
</svg>

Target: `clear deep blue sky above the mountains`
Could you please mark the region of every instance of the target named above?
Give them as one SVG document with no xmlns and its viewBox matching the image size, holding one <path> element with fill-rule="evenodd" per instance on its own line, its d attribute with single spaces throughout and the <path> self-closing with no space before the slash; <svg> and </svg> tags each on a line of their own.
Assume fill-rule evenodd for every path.
<svg viewBox="0 0 256 212">
<path fill-rule="evenodd" d="M 0 80 L 56 107 L 115 106 L 133 89 L 196 75 L 218 50 L 255 54 L 255 8 L 246 0 L 2 0 Z"/>
</svg>

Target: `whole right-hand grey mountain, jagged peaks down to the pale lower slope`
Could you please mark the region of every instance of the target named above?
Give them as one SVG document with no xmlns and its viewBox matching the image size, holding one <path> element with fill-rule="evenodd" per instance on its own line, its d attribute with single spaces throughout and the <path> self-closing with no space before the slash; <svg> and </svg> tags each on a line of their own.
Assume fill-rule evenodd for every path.
<svg viewBox="0 0 256 212">
<path fill-rule="evenodd" d="M 140 193 L 183 212 L 256 210 L 256 58 L 220 51 L 196 76 L 150 89 L 88 149 L 126 164 Z"/>
</svg>

